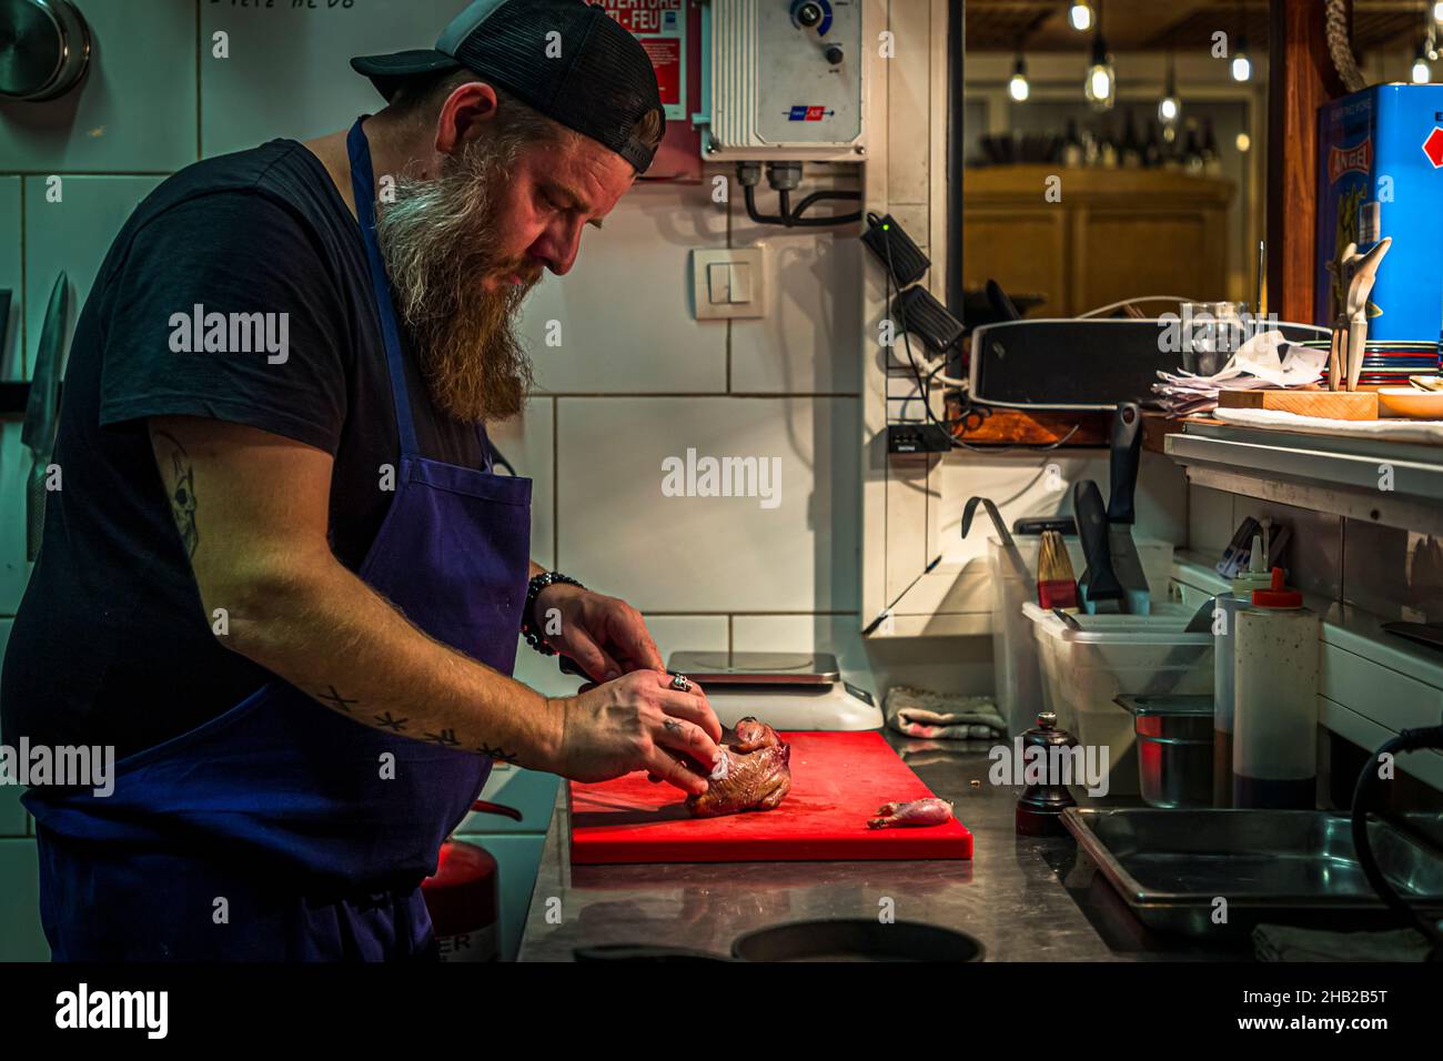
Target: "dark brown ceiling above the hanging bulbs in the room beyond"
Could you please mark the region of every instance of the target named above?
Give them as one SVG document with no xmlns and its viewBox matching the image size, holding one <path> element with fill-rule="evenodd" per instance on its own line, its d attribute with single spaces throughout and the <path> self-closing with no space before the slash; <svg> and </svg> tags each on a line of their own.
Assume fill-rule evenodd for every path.
<svg viewBox="0 0 1443 1061">
<path fill-rule="evenodd" d="M 1068 0 L 964 0 L 968 52 L 1076 51 Z M 1354 0 L 1354 51 L 1407 51 L 1423 35 L 1424 0 Z M 1098 9 L 1098 0 L 1092 0 Z M 1101 0 L 1102 33 L 1113 52 L 1208 49 L 1216 30 L 1245 29 L 1254 51 L 1267 46 L 1267 0 Z M 1091 30 L 1088 32 L 1091 36 Z"/>
</svg>

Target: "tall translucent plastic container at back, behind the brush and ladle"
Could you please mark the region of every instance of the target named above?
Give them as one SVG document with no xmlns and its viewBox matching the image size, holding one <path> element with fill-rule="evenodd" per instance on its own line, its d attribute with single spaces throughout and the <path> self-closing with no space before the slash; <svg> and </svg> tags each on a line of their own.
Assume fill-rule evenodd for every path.
<svg viewBox="0 0 1443 1061">
<path fill-rule="evenodd" d="M 997 710 L 1007 719 L 1009 736 L 1017 736 L 1030 729 L 1038 720 L 1039 710 L 1053 710 L 1048 700 L 1048 690 L 1042 683 L 1038 639 L 1032 631 L 1032 621 L 1022 612 L 1026 603 L 1035 608 L 1038 605 L 1038 553 L 1042 550 L 1042 538 L 1014 536 L 1013 541 L 1027 566 L 1026 579 L 1017 577 L 1007 564 L 1001 543 L 997 538 L 987 540 L 987 569 L 993 590 L 993 689 L 997 696 Z M 1076 537 L 1065 537 L 1063 541 L 1068 546 L 1072 570 L 1081 577 L 1082 572 L 1087 570 L 1082 543 Z M 1147 590 L 1154 609 L 1166 605 L 1167 601 L 1172 556 L 1173 546 L 1169 541 L 1152 538 L 1137 541 L 1137 557 L 1143 564 L 1143 575 L 1147 576 Z M 1115 616 L 1085 618 L 1092 621 Z"/>
</svg>

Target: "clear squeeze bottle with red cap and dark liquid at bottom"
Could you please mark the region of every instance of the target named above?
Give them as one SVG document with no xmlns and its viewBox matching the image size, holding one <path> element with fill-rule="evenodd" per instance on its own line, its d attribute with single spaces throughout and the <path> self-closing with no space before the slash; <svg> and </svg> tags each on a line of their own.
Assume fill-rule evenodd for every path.
<svg viewBox="0 0 1443 1061">
<path fill-rule="evenodd" d="M 1317 638 L 1322 621 L 1303 595 L 1253 590 L 1235 616 L 1232 805 L 1312 810 L 1317 788 Z"/>
</svg>

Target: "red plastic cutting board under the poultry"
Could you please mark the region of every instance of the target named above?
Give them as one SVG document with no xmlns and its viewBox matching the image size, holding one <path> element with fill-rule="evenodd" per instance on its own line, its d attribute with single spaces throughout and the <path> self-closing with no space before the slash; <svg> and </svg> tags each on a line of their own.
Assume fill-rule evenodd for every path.
<svg viewBox="0 0 1443 1061">
<path fill-rule="evenodd" d="M 792 788 L 768 811 L 694 818 L 685 795 L 645 774 L 571 784 L 571 862 L 970 859 L 962 823 L 869 829 L 885 803 L 932 795 L 882 733 L 781 733 Z"/>
</svg>

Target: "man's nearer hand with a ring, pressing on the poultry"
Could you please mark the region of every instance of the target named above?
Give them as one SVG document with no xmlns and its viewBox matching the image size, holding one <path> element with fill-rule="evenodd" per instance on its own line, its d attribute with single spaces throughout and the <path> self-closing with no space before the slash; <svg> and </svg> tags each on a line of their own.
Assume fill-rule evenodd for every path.
<svg viewBox="0 0 1443 1061">
<path fill-rule="evenodd" d="M 560 704 L 564 723 L 560 761 L 553 767 L 557 774 L 606 781 L 645 769 L 688 794 L 707 791 L 706 778 L 678 758 L 710 771 L 722 755 L 722 723 L 696 684 L 693 691 L 678 693 L 665 671 L 638 670 Z"/>
</svg>

